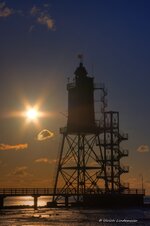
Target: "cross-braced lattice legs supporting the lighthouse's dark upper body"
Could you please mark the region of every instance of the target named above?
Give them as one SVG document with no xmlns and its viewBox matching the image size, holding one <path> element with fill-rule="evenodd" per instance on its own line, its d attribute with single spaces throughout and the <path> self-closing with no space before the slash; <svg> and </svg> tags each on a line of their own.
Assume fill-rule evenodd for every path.
<svg viewBox="0 0 150 226">
<path fill-rule="evenodd" d="M 53 203 L 58 203 L 63 197 L 65 206 L 68 206 L 70 194 L 75 203 L 81 203 L 83 194 L 100 190 L 98 176 L 103 173 L 103 159 L 99 134 L 64 132 L 57 163 Z M 61 189 L 58 189 L 59 184 Z"/>
</svg>

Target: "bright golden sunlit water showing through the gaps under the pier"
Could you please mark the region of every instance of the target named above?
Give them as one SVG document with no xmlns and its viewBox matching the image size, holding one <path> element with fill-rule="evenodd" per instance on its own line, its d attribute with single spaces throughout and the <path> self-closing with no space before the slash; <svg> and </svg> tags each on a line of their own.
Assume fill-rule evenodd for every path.
<svg viewBox="0 0 150 226">
<path fill-rule="evenodd" d="M 38 198 L 38 206 L 45 206 L 47 202 L 51 200 L 51 197 L 41 196 Z M 33 206 L 34 198 L 31 196 L 20 197 L 6 197 L 4 200 L 5 206 Z"/>
</svg>

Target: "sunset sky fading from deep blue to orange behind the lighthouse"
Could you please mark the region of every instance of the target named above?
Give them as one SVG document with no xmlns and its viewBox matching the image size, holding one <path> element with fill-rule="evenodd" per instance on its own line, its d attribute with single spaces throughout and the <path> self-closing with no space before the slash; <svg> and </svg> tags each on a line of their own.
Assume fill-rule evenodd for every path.
<svg viewBox="0 0 150 226">
<path fill-rule="evenodd" d="M 124 177 L 150 194 L 150 2 L 0 0 L 0 187 L 51 187 L 78 54 L 120 112 Z M 45 117 L 27 122 L 38 106 Z M 48 139 L 39 140 L 41 133 Z"/>
</svg>

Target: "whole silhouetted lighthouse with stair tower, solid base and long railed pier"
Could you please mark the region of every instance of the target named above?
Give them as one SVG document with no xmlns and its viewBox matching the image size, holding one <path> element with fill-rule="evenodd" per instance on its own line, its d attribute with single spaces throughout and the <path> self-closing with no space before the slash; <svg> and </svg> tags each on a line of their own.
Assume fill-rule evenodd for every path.
<svg viewBox="0 0 150 226">
<path fill-rule="evenodd" d="M 145 191 L 129 189 L 121 182 L 128 166 L 121 158 L 128 156 L 120 143 L 128 139 L 119 131 L 119 112 L 106 111 L 107 91 L 94 84 L 82 62 L 75 78 L 67 85 L 67 126 L 60 129 L 62 142 L 53 188 L 1 188 L 0 209 L 11 196 L 32 196 L 34 208 L 40 196 L 51 196 L 47 205 L 85 207 L 141 206 Z M 96 93 L 96 95 L 95 95 Z M 143 178 L 142 178 L 143 181 Z"/>
</svg>

